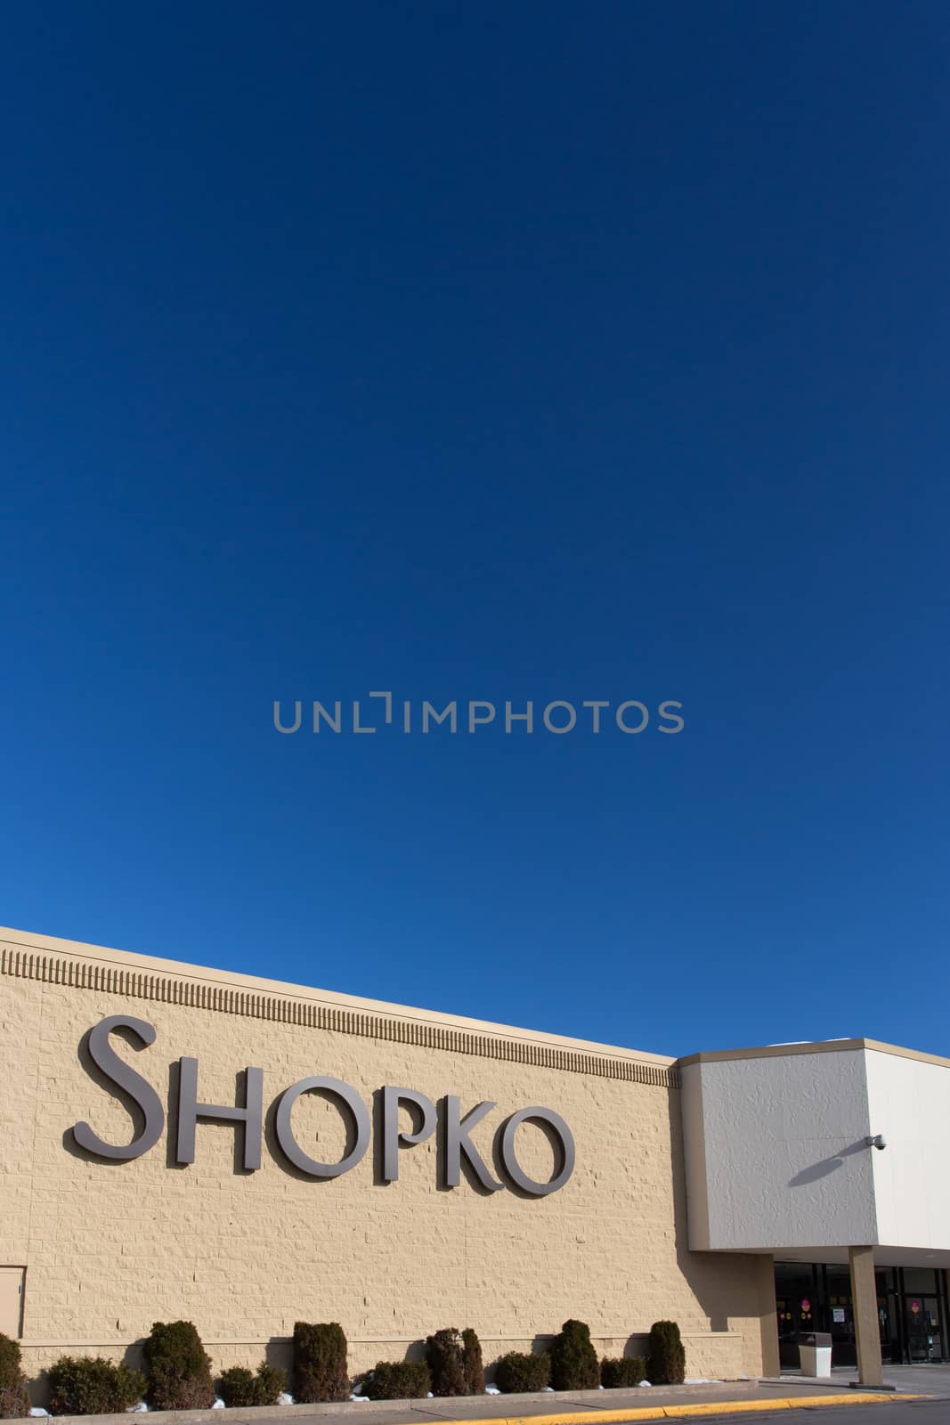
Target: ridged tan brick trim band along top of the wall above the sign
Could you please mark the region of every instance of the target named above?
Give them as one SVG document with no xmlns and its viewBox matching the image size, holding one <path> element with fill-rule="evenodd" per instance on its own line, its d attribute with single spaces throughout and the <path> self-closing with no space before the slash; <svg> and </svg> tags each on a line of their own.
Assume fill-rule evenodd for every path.
<svg viewBox="0 0 950 1425">
<path fill-rule="evenodd" d="M 231 989 L 226 985 L 207 985 L 199 980 L 175 979 L 171 975 L 148 975 L 144 970 L 122 969 L 117 965 L 97 965 L 58 955 L 0 948 L 0 975 L 14 979 L 40 980 L 46 985 L 70 985 L 75 989 L 122 995 L 127 999 L 151 999 L 191 1009 L 209 1009 L 221 1015 L 244 1015 L 249 1019 L 272 1019 L 306 1029 L 329 1029 L 362 1039 L 389 1039 L 400 1045 L 419 1045 L 456 1054 L 477 1054 L 481 1059 L 501 1059 L 510 1063 L 534 1064 L 600 1079 L 621 1079 L 644 1083 L 655 1089 L 678 1089 L 679 1073 L 659 1064 L 635 1059 L 610 1059 L 585 1054 L 554 1045 L 537 1045 L 493 1035 L 473 1035 L 464 1029 L 389 1019 L 382 1015 L 359 1013 L 336 1005 L 316 1005 L 276 995 L 256 995 L 252 990 Z"/>
</svg>

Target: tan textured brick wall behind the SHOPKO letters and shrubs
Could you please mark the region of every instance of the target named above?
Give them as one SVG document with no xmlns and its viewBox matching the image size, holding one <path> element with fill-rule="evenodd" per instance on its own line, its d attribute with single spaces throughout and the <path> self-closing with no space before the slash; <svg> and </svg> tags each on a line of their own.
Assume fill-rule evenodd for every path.
<svg viewBox="0 0 950 1425">
<path fill-rule="evenodd" d="M 254 1365 L 265 1349 L 281 1359 L 296 1320 L 340 1321 L 356 1371 L 403 1357 L 443 1325 L 473 1325 L 491 1361 L 554 1334 L 567 1317 L 587 1321 L 604 1354 L 622 1354 L 631 1334 L 671 1317 L 684 1331 L 691 1374 L 759 1371 L 755 1260 L 687 1250 L 675 1087 L 611 1077 L 602 1056 L 597 1072 L 503 1057 L 554 1054 L 555 1040 L 523 1032 L 517 1042 L 501 1033 L 486 1040 L 484 1053 L 460 1053 L 447 1027 L 446 1047 L 437 1047 L 385 1037 L 390 1029 L 370 1017 L 340 1019 L 343 1029 L 288 1022 L 279 995 L 272 1019 L 259 1017 L 268 1012 L 259 1002 L 254 1012 L 172 1003 L 174 975 L 161 983 L 140 976 L 132 995 L 64 983 L 81 979 L 73 966 L 94 956 L 41 942 L 50 946 L 56 958 L 40 965 L 9 943 L 0 966 L 0 1264 L 27 1267 L 30 1372 L 66 1349 L 121 1355 L 152 1321 L 179 1317 L 197 1324 L 218 1369 Z M 150 966 L 108 955 L 117 966 Z M 188 970 L 191 998 L 205 975 L 209 985 L 254 988 L 238 976 L 178 969 Z M 367 1104 L 383 1083 L 433 1100 L 456 1093 L 463 1112 L 494 1099 L 499 1107 L 473 1133 L 490 1161 L 497 1124 L 518 1107 L 546 1104 L 574 1131 L 574 1176 L 544 1198 L 483 1196 L 464 1177 L 440 1190 L 430 1140 L 400 1153 L 396 1183 L 373 1181 L 372 1149 L 353 1171 L 309 1181 L 278 1161 L 276 1147 L 269 1151 L 271 1130 L 263 1166 L 245 1174 L 235 1171 L 234 1127 L 212 1123 L 198 1124 L 189 1167 L 169 1163 L 169 1126 L 132 1163 L 87 1160 L 70 1141 L 77 1120 L 108 1141 L 131 1136 L 125 1110 L 78 1057 L 87 1030 L 113 1013 L 155 1026 L 150 1049 L 118 1047 L 165 1106 L 169 1064 L 182 1054 L 199 1060 L 205 1102 L 234 1103 L 238 1070 L 261 1067 L 265 1110 L 309 1074 L 346 1080 Z M 396 1017 L 406 1013 L 393 1007 Z M 417 1012 L 417 1023 L 451 1020 Z M 477 1050 L 481 1040 L 471 1043 Z M 627 1062 L 634 1056 L 617 1062 L 618 1074 L 634 1072 Z M 661 1060 L 642 1062 L 654 1079 L 665 1074 L 655 1067 Z M 588 1060 L 577 1063 L 583 1070 Z M 340 1154 L 339 1116 L 320 1099 L 302 1099 L 293 1121 L 313 1156 Z M 520 1130 L 518 1149 L 528 1173 L 550 1176 L 538 1130 Z"/>
</svg>

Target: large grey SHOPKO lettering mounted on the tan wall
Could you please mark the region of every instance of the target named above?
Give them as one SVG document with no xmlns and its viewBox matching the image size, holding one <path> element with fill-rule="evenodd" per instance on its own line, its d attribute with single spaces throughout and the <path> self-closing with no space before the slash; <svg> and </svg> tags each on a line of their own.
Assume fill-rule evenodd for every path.
<svg viewBox="0 0 950 1425">
<path fill-rule="evenodd" d="M 144 1126 L 141 1133 L 125 1146 L 105 1143 L 88 1126 L 88 1123 L 73 1124 L 73 1137 L 80 1149 L 93 1153 L 95 1157 L 108 1159 L 113 1163 L 128 1163 L 154 1149 L 165 1129 L 165 1110 L 161 1099 L 152 1086 L 135 1073 L 134 1069 L 118 1057 L 110 1043 L 114 1030 L 124 1032 L 134 1047 L 147 1049 L 155 1043 L 155 1029 L 144 1019 L 132 1019 L 128 1015 L 110 1015 L 100 1020 L 88 1033 L 88 1056 L 110 1083 L 115 1084 L 138 1109 Z M 178 1109 L 174 1129 L 175 1163 L 187 1164 L 195 1161 L 195 1127 L 199 1120 L 214 1123 L 234 1123 L 244 1137 L 244 1168 L 248 1173 L 261 1167 L 261 1140 L 263 1137 L 263 1070 L 245 1069 L 244 1074 L 244 1103 L 221 1104 L 201 1103 L 198 1100 L 198 1060 L 179 1059 L 178 1062 Z M 305 1093 L 318 1093 L 328 1099 L 339 1112 L 348 1129 L 348 1151 L 336 1163 L 320 1163 L 298 1143 L 293 1134 L 291 1116 L 293 1104 Z M 404 1106 L 416 1120 L 412 1131 L 399 1126 L 399 1110 Z M 382 1153 L 379 1154 L 380 1180 L 395 1183 L 399 1177 L 399 1150 L 424 1143 L 433 1133 L 439 1136 L 440 1171 L 446 1187 L 457 1187 L 461 1173 L 461 1160 L 490 1193 L 500 1191 L 506 1184 L 500 1183 L 489 1170 L 484 1159 L 469 1137 L 476 1127 L 496 1107 L 491 1102 L 476 1103 L 464 1117 L 461 1104 L 453 1094 L 446 1094 L 440 1104 L 440 1112 L 432 1099 L 414 1089 L 395 1089 L 386 1084 L 379 1093 L 376 1114 L 376 1133 L 382 1134 Z M 362 1097 L 350 1084 L 340 1079 L 328 1079 L 315 1074 L 310 1079 L 299 1079 L 285 1089 L 273 1106 L 273 1134 L 283 1157 L 299 1173 L 312 1178 L 340 1177 L 365 1157 L 372 1137 L 370 1114 Z M 171 1104 L 169 1104 L 171 1112 Z M 528 1177 L 516 1153 L 516 1136 L 520 1124 L 540 1124 L 548 1139 L 554 1143 L 557 1153 L 557 1170 L 548 1183 L 538 1183 Z M 531 1197 L 544 1197 L 564 1187 L 574 1171 L 574 1137 L 564 1119 L 553 1109 L 518 1109 L 501 1124 L 497 1133 L 497 1156 L 508 1183 Z M 352 1146 L 350 1146 L 352 1144 Z"/>
</svg>

